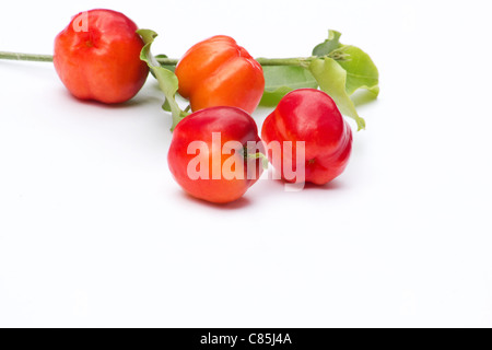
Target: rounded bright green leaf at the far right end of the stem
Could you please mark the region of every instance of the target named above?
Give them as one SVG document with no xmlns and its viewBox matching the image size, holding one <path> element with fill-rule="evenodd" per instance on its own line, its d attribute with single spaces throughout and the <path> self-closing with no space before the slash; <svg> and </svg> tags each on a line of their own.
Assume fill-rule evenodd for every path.
<svg viewBox="0 0 492 350">
<path fill-rule="evenodd" d="M 347 93 L 352 95 L 359 89 L 366 89 L 377 97 L 379 72 L 371 57 L 355 46 L 345 46 L 342 51 L 347 58 L 338 63 L 347 71 Z"/>
</svg>

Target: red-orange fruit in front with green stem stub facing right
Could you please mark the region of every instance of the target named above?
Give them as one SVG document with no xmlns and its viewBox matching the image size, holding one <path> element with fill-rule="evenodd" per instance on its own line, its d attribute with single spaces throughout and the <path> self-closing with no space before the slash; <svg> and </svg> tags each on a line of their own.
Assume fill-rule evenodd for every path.
<svg viewBox="0 0 492 350">
<path fill-rule="evenodd" d="M 173 133 L 167 162 L 189 195 L 213 203 L 232 202 L 262 173 L 263 152 L 255 120 L 235 107 L 212 107 L 183 119 Z"/>
</svg>

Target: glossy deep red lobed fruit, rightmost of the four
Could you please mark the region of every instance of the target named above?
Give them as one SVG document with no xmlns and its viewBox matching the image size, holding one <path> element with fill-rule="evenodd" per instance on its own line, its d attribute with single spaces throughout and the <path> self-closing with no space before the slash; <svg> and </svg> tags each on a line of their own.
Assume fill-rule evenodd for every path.
<svg viewBox="0 0 492 350">
<path fill-rule="evenodd" d="M 284 166 L 277 166 L 282 177 L 291 183 L 307 182 L 324 185 L 339 176 L 345 168 L 352 150 L 352 130 L 341 116 L 333 100 L 314 89 L 301 89 L 285 95 L 277 109 L 265 120 L 261 138 L 272 141 L 294 142 L 293 156 L 282 148 L 282 162 L 286 166 L 304 166 L 305 179 L 286 178 Z M 295 142 L 304 141 L 305 161 L 296 160 Z M 269 159 L 273 165 L 281 164 Z"/>
</svg>

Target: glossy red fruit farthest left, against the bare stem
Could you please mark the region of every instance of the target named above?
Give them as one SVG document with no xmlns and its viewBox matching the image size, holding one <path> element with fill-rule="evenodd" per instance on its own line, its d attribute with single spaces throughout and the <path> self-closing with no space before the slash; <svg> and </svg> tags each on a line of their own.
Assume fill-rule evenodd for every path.
<svg viewBox="0 0 492 350">
<path fill-rule="evenodd" d="M 80 100 L 106 104 L 132 98 L 149 74 L 142 38 L 125 14 L 92 10 L 73 18 L 55 39 L 55 69 Z"/>
</svg>

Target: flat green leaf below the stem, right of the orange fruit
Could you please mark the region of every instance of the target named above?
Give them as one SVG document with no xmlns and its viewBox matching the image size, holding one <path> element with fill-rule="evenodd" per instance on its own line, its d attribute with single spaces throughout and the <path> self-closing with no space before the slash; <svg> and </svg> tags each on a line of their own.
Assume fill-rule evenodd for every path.
<svg viewBox="0 0 492 350">
<path fill-rule="evenodd" d="M 265 92 L 260 105 L 274 107 L 280 100 L 296 89 L 317 89 L 318 83 L 309 70 L 295 66 L 263 67 Z"/>
</svg>

